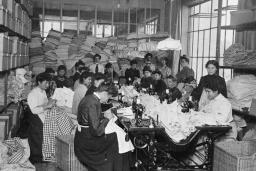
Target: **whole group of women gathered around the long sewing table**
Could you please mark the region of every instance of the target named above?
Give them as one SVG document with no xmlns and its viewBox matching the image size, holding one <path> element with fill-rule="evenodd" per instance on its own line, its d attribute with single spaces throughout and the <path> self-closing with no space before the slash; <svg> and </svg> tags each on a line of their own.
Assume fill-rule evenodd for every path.
<svg viewBox="0 0 256 171">
<path fill-rule="evenodd" d="M 58 67 L 57 76 L 54 76 L 53 69 L 46 69 L 45 73 L 36 77 L 37 87 L 30 92 L 28 105 L 32 113 L 44 123 L 45 112 L 56 103 L 49 98 L 53 90 L 56 87 L 73 89 L 72 113 L 77 115 L 79 124 L 74 140 L 78 159 L 90 171 L 129 170 L 128 153 L 119 154 L 116 135 L 105 134 L 108 122 L 114 117 L 108 111 L 113 104 L 106 102 L 116 95 L 115 88 L 106 82 L 111 83 L 120 78 L 111 63 L 105 65 L 104 71 L 100 58 L 100 55 L 95 55 L 94 64 L 89 68 L 85 67 L 82 61 L 78 61 L 75 64 L 76 72 L 70 78 L 66 76 L 67 69 L 64 65 Z M 193 70 L 188 67 L 189 60 L 185 56 L 180 59 L 181 71 L 175 76 L 167 66 L 168 60 L 163 58 L 161 62 L 162 66 L 156 67 L 152 64 L 152 54 L 147 54 L 144 66 L 139 69 L 137 61 L 132 60 L 131 67 L 125 71 L 126 84 L 139 84 L 141 88 L 152 89 L 157 95 L 168 91 L 171 93 L 172 101 L 192 96 L 201 102 L 202 111 L 214 113 L 221 122 L 233 120 L 231 105 L 225 98 L 225 80 L 217 74 L 218 62 L 207 62 L 208 75 L 201 78 L 198 86 Z"/>
</svg>

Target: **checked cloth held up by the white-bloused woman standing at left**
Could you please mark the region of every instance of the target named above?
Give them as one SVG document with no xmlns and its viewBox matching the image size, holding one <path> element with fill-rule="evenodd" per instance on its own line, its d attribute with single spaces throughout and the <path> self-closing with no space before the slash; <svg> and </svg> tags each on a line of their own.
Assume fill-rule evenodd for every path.
<svg viewBox="0 0 256 171">
<path fill-rule="evenodd" d="M 74 125 L 68 114 L 58 108 L 52 108 L 45 114 L 43 125 L 43 159 L 55 162 L 55 137 L 58 135 L 69 135 Z"/>
</svg>

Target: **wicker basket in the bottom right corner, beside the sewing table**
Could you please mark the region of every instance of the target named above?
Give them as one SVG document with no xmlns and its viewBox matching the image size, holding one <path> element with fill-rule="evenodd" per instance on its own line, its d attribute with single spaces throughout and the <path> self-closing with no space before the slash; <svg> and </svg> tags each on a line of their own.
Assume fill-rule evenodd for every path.
<svg viewBox="0 0 256 171">
<path fill-rule="evenodd" d="M 256 141 L 220 142 L 214 148 L 213 171 L 255 171 Z"/>
</svg>

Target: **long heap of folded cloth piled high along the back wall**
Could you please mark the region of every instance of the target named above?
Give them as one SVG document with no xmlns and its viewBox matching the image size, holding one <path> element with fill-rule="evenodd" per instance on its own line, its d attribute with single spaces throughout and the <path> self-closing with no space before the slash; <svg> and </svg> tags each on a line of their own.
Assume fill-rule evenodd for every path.
<svg viewBox="0 0 256 171">
<path fill-rule="evenodd" d="M 85 34 L 75 35 L 71 32 L 60 33 L 50 30 L 44 46 L 42 46 L 40 32 L 35 31 L 32 33 L 32 42 L 30 43 L 30 61 L 37 63 L 36 70 L 38 70 L 38 66 L 59 64 L 65 64 L 68 69 L 72 69 L 78 60 L 90 65 L 93 62 L 93 56 L 99 54 L 103 64 L 107 62 L 119 64 L 118 59 L 126 59 L 127 64 L 121 66 L 121 70 L 125 70 L 130 67 L 130 60 L 143 59 L 148 52 L 159 58 L 167 56 L 168 53 L 156 50 L 157 41 L 152 40 L 153 38 L 163 39 L 166 36 L 168 35 L 163 33 L 156 35 L 130 34 L 123 38 L 96 38 Z"/>
</svg>

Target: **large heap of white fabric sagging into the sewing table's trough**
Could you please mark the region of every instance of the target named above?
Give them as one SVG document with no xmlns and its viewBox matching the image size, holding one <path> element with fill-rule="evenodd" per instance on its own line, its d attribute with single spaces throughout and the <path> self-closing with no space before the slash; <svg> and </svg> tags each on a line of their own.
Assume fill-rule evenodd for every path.
<svg viewBox="0 0 256 171">
<path fill-rule="evenodd" d="M 144 117 L 152 117 L 165 127 L 166 133 L 175 141 L 180 142 L 186 139 L 191 133 L 196 131 L 196 126 L 203 125 L 227 125 L 227 123 L 217 122 L 216 118 L 203 112 L 190 111 L 181 112 L 181 106 L 177 101 L 167 104 L 166 101 L 160 103 L 156 96 L 140 94 L 140 102 L 145 106 Z"/>
</svg>

